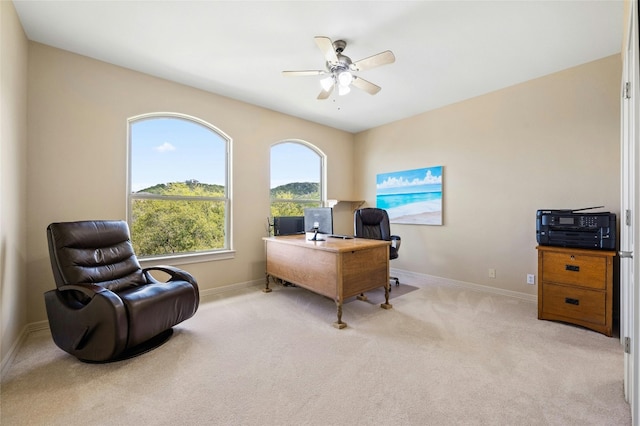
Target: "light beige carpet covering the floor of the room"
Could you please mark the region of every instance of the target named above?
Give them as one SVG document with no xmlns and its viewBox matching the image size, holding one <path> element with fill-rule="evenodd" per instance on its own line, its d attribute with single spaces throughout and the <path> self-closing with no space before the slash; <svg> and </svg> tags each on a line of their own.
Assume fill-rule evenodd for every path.
<svg viewBox="0 0 640 426">
<path fill-rule="evenodd" d="M 617 338 L 536 305 L 433 285 L 392 310 L 300 288 L 204 301 L 153 352 L 85 364 L 33 333 L 2 425 L 628 425 Z"/>
</svg>

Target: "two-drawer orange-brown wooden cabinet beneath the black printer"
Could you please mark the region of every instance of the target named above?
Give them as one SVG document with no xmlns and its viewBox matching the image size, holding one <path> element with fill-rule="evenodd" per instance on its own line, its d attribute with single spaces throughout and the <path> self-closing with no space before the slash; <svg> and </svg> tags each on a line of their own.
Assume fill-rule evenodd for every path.
<svg viewBox="0 0 640 426">
<path fill-rule="evenodd" d="M 538 246 L 538 319 L 613 332 L 615 251 Z"/>
</svg>

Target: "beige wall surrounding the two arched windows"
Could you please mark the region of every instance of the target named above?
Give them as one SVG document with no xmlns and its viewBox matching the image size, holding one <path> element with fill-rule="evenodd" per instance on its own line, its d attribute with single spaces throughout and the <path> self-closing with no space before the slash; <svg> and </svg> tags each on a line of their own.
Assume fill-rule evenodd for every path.
<svg viewBox="0 0 640 426">
<path fill-rule="evenodd" d="M 29 44 L 29 321 L 46 318 L 55 287 L 45 229 L 50 222 L 124 219 L 127 118 L 171 111 L 229 135 L 233 151 L 233 260 L 183 265 L 201 290 L 264 277 L 269 149 L 285 139 L 329 158 L 328 196 L 351 196 L 353 135 L 38 43 Z"/>
</svg>

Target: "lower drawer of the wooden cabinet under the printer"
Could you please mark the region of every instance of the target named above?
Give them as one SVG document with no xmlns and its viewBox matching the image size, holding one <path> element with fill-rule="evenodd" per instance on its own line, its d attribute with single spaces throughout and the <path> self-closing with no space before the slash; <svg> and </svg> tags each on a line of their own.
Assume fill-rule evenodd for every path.
<svg viewBox="0 0 640 426">
<path fill-rule="evenodd" d="M 603 291 L 542 284 L 542 313 L 587 321 L 606 323 L 606 293 Z"/>
</svg>

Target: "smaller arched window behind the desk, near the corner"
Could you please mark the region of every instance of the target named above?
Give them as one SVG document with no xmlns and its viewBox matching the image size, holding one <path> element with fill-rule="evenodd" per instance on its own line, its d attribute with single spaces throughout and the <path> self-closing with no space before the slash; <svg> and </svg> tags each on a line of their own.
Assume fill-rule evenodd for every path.
<svg viewBox="0 0 640 426">
<path fill-rule="evenodd" d="M 320 207 L 324 189 L 325 155 L 302 141 L 271 147 L 271 216 L 303 216 L 306 207 Z"/>
</svg>

